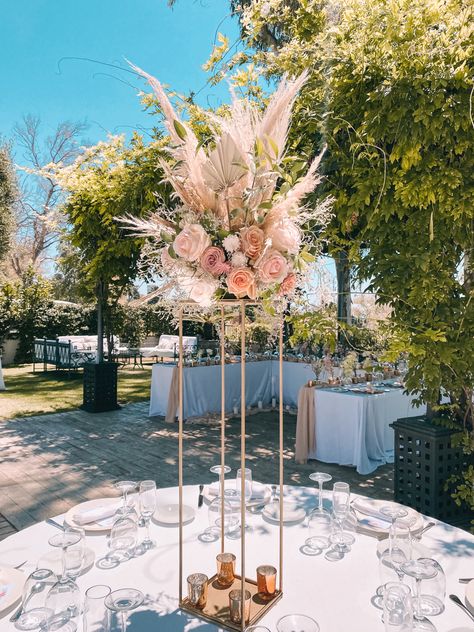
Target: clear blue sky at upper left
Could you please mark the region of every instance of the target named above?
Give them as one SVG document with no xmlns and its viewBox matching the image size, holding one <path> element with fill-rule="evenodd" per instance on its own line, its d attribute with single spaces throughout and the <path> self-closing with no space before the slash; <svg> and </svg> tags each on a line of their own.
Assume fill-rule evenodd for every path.
<svg viewBox="0 0 474 632">
<path fill-rule="evenodd" d="M 216 29 L 233 42 L 238 25 L 227 0 L 3 0 L 0 20 L 0 135 L 9 137 L 23 114 L 40 116 L 44 127 L 86 120 L 87 140 L 149 128 L 133 75 L 86 61 L 125 66 L 124 58 L 176 91 L 197 91 Z M 219 26 L 219 23 L 224 22 Z M 62 61 L 61 61 L 62 60 Z M 113 75 L 111 77 L 110 75 Z M 227 87 L 207 86 L 198 102 L 227 99 Z"/>
</svg>

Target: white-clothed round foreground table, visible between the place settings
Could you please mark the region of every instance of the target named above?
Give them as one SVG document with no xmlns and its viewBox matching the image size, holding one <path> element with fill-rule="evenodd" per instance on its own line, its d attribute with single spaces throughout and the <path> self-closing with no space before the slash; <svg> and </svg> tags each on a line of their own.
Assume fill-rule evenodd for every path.
<svg viewBox="0 0 474 632">
<path fill-rule="evenodd" d="M 195 519 L 184 526 L 184 583 L 187 575 L 196 571 L 211 577 L 215 573 L 215 556 L 219 552 L 218 541 L 205 543 L 198 537 L 208 526 L 207 504 L 197 507 L 198 494 L 198 486 L 184 487 L 184 502 L 196 511 Z M 175 503 L 178 489 L 159 489 L 157 496 L 159 504 Z M 288 486 L 285 487 L 285 498 L 287 496 L 297 499 L 306 509 L 316 504 L 312 488 Z M 328 501 L 329 498 L 328 492 Z M 57 519 L 62 520 L 62 516 Z M 246 568 L 247 576 L 253 577 L 260 564 L 278 566 L 278 525 L 250 512 L 247 512 L 247 519 Z M 324 555 L 308 556 L 300 551 L 307 537 L 305 522 L 284 528 L 284 595 L 260 623 L 276 632 L 276 622 L 281 616 L 303 613 L 318 621 L 321 632 L 383 631 L 381 611 L 371 604 L 379 584 L 377 539 L 356 534 L 352 550 L 342 560 L 330 562 Z M 142 538 L 144 533 L 140 531 Z M 97 566 L 107 552 L 106 535 L 88 534 L 86 546 L 94 551 L 95 564 L 77 580 L 82 594 L 94 584 L 107 584 L 112 590 L 134 587 L 143 591 L 147 597 L 146 605 L 130 613 L 127 632 L 218 630 L 178 608 L 178 528 L 153 524 L 151 531 L 156 548 L 107 570 Z M 41 522 L 8 537 L 0 542 L 0 564 L 14 565 L 27 559 L 28 564 L 22 568 L 28 574 L 36 567 L 38 559 L 51 551 L 48 538 L 56 532 L 55 527 Z M 422 545 L 428 549 L 425 553 L 429 557 L 441 563 L 446 573 L 447 595 L 455 593 L 464 599 L 464 586 L 458 583 L 458 579 L 474 575 L 474 537 L 437 522 L 423 536 Z M 240 538 L 227 539 L 226 550 L 237 555 L 239 572 Z M 438 632 L 474 631 L 474 622 L 448 598 L 445 605 L 443 614 L 431 619 Z M 15 630 L 13 623 L 9 622 L 15 608 L 0 616 L 2 632 Z M 82 624 L 78 630 L 82 630 Z"/>
</svg>

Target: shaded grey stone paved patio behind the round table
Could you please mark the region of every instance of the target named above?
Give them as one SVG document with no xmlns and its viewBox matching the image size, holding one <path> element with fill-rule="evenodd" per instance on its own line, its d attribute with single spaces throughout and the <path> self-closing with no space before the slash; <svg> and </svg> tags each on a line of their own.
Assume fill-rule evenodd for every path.
<svg viewBox="0 0 474 632">
<path fill-rule="evenodd" d="M 316 469 L 350 483 L 368 496 L 392 497 L 393 466 L 369 476 L 354 468 L 310 461 L 294 462 L 296 417 L 285 417 L 285 482 L 308 485 Z M 228 462 L 238 467 L 240 423 L 227 431 Z M 278 415 L 262 412 L 247 423 L 247 459 L 254 478 L 276 480 Z M 214 480 L 209 467 L 218 462 L 220 427 L 186 426 L 185 483 Z M 77 502 L 114 495 L 113 482 L 131 478 L 156 480 L 159 487 L 177 485 L 177 425 L 148 417 L 148 402 L 121 410 L 89 414 L 81 410 L 25 417 L 0 423 L 0 514 L 16 529 L 62 513 Z M 0 539 L 10 531 L 0 529 Z"/>
</svg>

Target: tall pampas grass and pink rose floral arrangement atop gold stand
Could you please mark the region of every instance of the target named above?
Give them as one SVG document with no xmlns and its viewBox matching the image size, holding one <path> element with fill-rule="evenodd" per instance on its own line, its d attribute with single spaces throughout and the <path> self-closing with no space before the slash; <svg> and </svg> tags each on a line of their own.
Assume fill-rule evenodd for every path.
<svg viewBox="0 0 474 632">
<path fill-rule="evenodd" d="M 322 154 L 301 177 L 297 171 L 305 165 L 285 156 L 305 75 L 284 78 L 263 113 L 232 92 L 227 112 L 208 113 L 211 138 L 204 146 L 159 81 L 133 68 L 148 80 L 164 115 L 172 163 L 163 161 L 161 168 L 177 206 L 147 220 L 121 220 L 149 239 L 145 250 L 166 279 L 163 291 L 201 307 L 222 297 L 287 299 L 314 260 L 314 243 L 302 226 L 323 226 L 330 216 L 329 201 L 311 209 L 302 204 L 320 180 Z"/>
</svg>

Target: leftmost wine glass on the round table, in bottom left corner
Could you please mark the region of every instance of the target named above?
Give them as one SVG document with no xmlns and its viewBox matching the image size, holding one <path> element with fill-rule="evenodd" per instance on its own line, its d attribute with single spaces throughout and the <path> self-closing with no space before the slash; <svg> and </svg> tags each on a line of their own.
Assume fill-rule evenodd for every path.
<svg viewBox="0 0 474 632">
<path fill-rule="evenodd" d="M 16 628 L 35 630 L 51 616 L 51 610 L 45 605 L 46 595 L 56 581 L 56 575 L 49 568 L 38 568 L 28 576 L 23 587 L 21 615 L 15 622 Z"/>
</svg>

